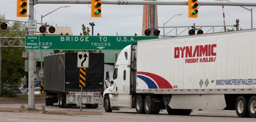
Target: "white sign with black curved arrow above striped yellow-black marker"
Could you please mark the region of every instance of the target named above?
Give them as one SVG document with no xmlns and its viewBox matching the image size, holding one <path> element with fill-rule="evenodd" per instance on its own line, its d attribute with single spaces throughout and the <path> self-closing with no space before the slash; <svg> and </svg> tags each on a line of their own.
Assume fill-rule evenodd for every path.
<svg viewBox="0 0 256 122">
<path fill-rule="evenodd" d="M 89 52 L 77 52 L 77 67 L 88 68 L 89 66 Z"/>
</svg>

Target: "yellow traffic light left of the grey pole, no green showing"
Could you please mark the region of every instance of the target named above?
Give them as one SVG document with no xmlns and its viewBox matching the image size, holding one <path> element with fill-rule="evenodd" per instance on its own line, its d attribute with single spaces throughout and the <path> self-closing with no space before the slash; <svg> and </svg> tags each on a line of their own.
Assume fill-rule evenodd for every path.
<svg viewBox="0 0 256 122">
<path fill-rule="evenodd" d="M 27 17 L 27 0 L 17 0 L 17 17 Z"/>
</svg>

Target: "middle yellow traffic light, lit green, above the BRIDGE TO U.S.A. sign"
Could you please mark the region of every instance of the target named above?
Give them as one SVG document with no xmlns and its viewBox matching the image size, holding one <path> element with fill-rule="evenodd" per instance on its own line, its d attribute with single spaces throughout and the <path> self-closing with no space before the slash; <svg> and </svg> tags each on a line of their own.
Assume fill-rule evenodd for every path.
<svg viewBox="0 0 256 122">
<path fill-rule="evenodd" d="M 101 17 L 101 0 L 92 0 L 92 17 Z"/>
</svg>

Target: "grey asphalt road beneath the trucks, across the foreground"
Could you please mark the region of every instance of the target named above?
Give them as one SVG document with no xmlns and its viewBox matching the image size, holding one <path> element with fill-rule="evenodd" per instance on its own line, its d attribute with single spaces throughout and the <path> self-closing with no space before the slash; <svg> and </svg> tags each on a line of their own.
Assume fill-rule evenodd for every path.
<svg viewBox="0 0 256 122">
<path fill-rule="evenodd" d="M 21 104 L 0 104 L 0 107 L 19 108 Z M 41 109 L 42 104 L 36 104 Z M 26 106 L 26 105 L 25 105 Z M 80 110 L 80 106 L 71 108 L 59 108 L 46 106 L 46 110 Z M 6 113 L 0 112 L 0 122 L 254 122 L 256 118 L 238 118 L 235 110 L 193 110 L 188 116 L 168 115 L 166 110 L 160 111 L 159 115 L 137 114 L 135 109 L 113 110 L 105 112 L 102 105 L 97 109 L 83 111 L 101 112 L 103 115 L 44 115 L 33 113 Z"/>
</svg>

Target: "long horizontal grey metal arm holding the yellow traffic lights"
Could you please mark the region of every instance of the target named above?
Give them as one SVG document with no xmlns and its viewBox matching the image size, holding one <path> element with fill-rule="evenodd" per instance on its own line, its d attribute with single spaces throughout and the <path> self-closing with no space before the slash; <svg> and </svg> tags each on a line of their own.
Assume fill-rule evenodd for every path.
<svg viewBox="0 0 256 122">
<path fill-rule="evenodd" d="M 36 0 L 36 4 L 91 4 L 91 0 Z M 103 0 L 102 4 L 113 5 L 183 5 L 187 6 L 188 2 L 178 1 L 135 1 L 135 0 Z M 200 6 L 251 6 L 256 7 L 255 2 L 198 2 Z"/>
</svg>

